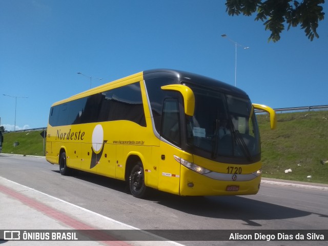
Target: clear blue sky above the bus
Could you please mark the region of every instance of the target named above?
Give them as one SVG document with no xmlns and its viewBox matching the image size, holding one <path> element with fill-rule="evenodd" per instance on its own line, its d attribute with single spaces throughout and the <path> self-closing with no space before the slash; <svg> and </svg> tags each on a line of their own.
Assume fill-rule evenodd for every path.
<svg viewBox="0 0 328 246">
<path fill-rule="evenodd" d="M 328 104 L 327 14 L 312 42 L 298 26 L 274 43 L 255 16 L 229 16 L 224 3 L 0 0 L 1 126 L 47 127 L 51 105 L 88 90 L 90 76 L 96 87 L 155 68 L 236 84 L 274 109 Z"/>
</svg>

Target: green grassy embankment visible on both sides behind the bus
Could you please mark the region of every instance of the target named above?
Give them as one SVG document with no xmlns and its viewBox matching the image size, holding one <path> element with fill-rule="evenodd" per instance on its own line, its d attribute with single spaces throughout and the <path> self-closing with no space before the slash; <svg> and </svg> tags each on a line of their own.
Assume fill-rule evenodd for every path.
<svg viewBox="0 0 328 246">
<path fill-rule="evenodd" d="M 277 129 L 269 115 L 257 115 L 262 148 L 262 176 L 328 183 L 328 111 L 278 113 Z M 43 155 L 42 131 L 4 134 L 3 153 Z M 14 142 L 19 145 L 14 147 Z M 285 173 L 287 169 L 292 172 Z M 311 178 L 307 178 L 312 176 Z"/>
</svg>

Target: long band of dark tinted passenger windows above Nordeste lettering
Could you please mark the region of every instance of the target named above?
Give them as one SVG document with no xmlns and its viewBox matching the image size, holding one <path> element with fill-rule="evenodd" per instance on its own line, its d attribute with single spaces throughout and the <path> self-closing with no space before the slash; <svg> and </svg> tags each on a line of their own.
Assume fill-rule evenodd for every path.
<svg viewBox="0 0 328 246">
<path fill-rule="evenodd" d="M 49 124 L 65 126 L 129 120 L 146 127 L 139 83 L 119 87 L 51 108 Z"/>
</svg>

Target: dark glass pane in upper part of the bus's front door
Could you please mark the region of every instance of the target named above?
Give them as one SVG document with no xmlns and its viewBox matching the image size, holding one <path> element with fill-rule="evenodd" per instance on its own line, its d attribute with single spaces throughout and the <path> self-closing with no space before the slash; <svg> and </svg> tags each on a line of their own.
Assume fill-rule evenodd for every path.
<svg viewBox="0 0 328 246">
<path fill-rule="evenodd" d="M 164 100 L 161 136 L 177 146 L 181 145 L 179 101 L 177 98 Z"/>
</svg>

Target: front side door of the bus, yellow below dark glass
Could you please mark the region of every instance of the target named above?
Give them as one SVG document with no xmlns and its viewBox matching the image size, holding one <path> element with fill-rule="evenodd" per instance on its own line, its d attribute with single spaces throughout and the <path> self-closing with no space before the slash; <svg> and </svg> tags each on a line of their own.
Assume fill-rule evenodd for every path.
<svg viewBox="0 0 328 246">
<path fill-rule="evenodd" d="M 158 165 L 158 189 L 179 194 L 180 163 L 174 155 L 180 155 L 181 120 L 178 98 L 166 98 L 163 102 L 160 130 L 160 165 Z"/>
</svg>

